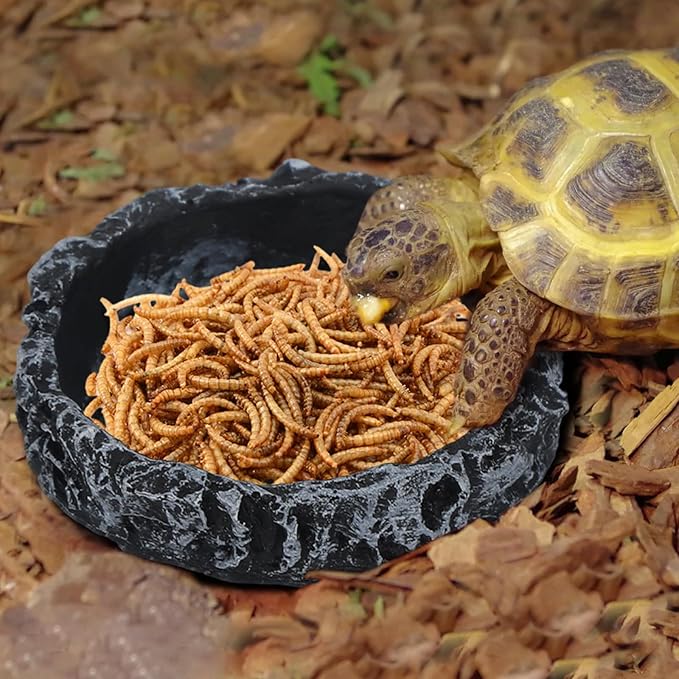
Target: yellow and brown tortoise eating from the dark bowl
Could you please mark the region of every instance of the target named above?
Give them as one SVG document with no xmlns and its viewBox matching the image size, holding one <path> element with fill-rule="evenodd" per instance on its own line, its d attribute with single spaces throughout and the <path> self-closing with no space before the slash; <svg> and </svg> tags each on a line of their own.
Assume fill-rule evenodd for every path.
<svg viewBox="0 0 679 679">
<path fill-rule="evenodd" d="M 441 152 L 458 176 L 371 196 L 344 277 L 366 323 L 484 295 L 451 434 L 499 419 L 539 343 L 679 346 L 679 49 L 603 52 L 533 80 Z"/>
</svg>

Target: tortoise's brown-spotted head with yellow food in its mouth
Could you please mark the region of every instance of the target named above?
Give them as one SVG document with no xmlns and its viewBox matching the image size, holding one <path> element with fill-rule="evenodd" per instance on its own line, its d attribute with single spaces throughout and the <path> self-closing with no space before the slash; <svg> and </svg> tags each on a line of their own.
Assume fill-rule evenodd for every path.
<svg viewBox="0 0 679 679">
<path fill-rule="evenodd" d="M 343 276 L 364 323 L 398 323 L 455 296 L 456 259 L 445 220 L 416 206 L 380 221 L 362 218 Z"/>
</svg>

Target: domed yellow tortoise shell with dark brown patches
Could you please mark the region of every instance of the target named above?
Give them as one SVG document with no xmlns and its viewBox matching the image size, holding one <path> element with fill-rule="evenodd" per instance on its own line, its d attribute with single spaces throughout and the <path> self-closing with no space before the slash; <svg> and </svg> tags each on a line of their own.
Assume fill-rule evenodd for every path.
<svg viewBox="0 0 679 679">
<path fill-rule="evenodd" d="M 662 322 L 679 339 L 679 49 L 605 52 L 535 80 L 443 153 L 480 178 L 523 285 L 613 334 Z"/>
</svg>

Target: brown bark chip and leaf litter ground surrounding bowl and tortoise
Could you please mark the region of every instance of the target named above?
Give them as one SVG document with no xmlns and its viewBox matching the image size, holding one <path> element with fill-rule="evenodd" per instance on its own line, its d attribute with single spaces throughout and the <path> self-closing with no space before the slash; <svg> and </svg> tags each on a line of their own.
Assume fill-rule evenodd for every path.
<svg viewBox="0 0 679 679">
<path fill-rule="evenodd" d="M 199 582 L 66 519 L 26 465 L 10 381 L 24 277 L 57 239 L 148 189 L 263 176 L 289 156 L 450 172 L 436 144 L 477 130 L 527 79 L 601 49 L 678 44 L 675 5 L 0 2 L 0 674 L 678 674 L 674 354 L 569 358 L 574 409 L 538 490 L 497 525 L 295 593 Z M 371 79 L 336 74 L 337 117 L 297 70 L 327 36 Z"/>
</svg>

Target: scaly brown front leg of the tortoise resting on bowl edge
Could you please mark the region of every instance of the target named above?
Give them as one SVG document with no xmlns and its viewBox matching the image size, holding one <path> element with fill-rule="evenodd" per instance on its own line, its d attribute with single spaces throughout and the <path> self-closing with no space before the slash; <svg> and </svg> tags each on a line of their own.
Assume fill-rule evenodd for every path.
<svg viewBox="0 0 679 679">
<path fill-rule="evenodd" d="M 464 341 L 451 434 L 500 418 L 516 396 L 554 309 L 513 277 L 479 302 Z"/>
</svg>

